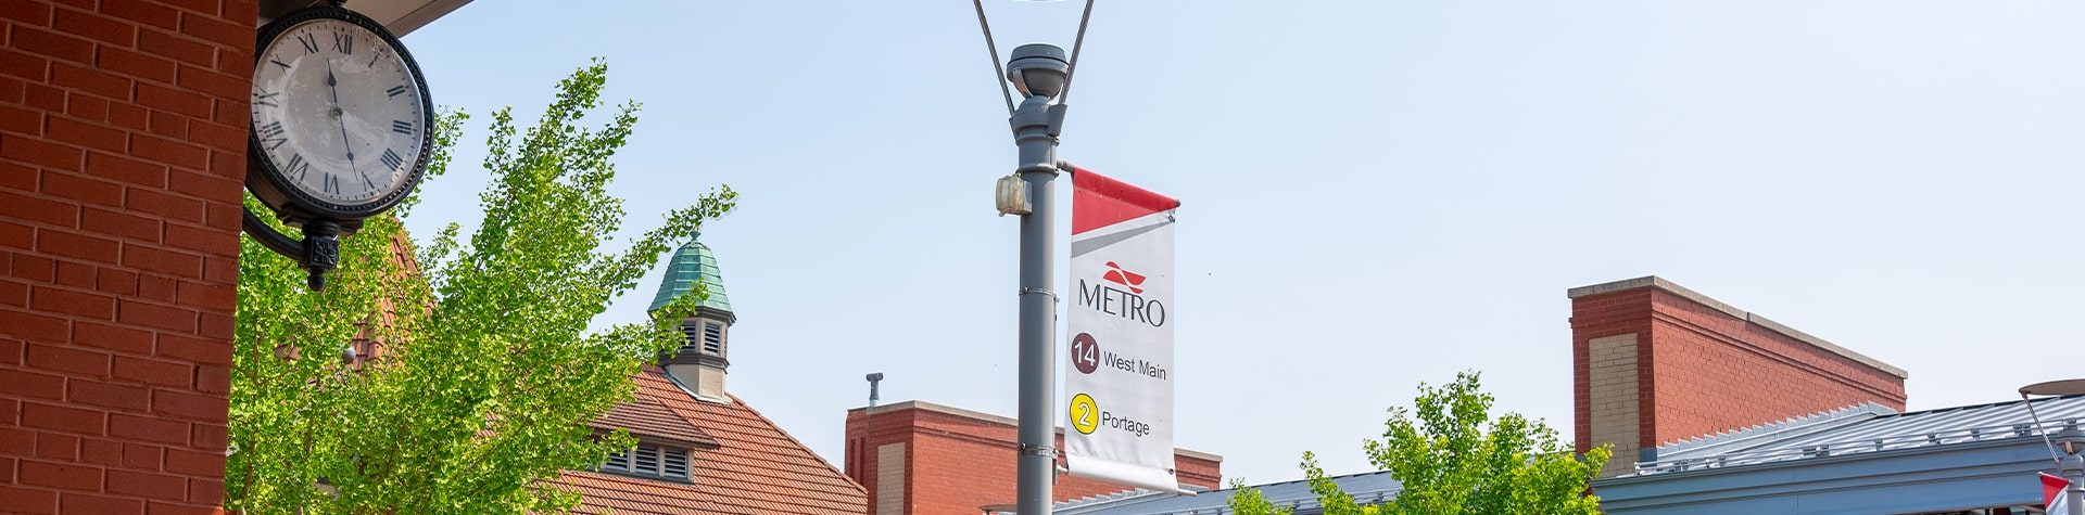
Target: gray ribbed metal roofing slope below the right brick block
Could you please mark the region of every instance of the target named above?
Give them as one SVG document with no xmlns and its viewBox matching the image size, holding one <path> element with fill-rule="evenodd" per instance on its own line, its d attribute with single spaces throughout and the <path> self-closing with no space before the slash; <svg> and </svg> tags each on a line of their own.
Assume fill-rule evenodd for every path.
<svg viewBox="0 0 2085 515">
<path fill-rule="evenodd" d="M 2037 398 L 2045 432 L 2085 419 L 2085 396 Z M 1697 438 L 1658 448 L 1658 459 L 1637 463 L 1637 473 L 1737 467 L 1812 457 L 1943 446 L 2000 438 L 2039 438 L 2027 400 L 1887 413 L 1849 407 L 1812 417 Z"/>
</svg>

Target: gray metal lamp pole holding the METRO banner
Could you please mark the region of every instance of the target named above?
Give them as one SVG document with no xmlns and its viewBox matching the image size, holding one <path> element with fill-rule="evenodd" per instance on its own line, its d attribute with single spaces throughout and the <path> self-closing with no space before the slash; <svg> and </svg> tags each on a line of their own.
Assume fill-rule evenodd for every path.
<svg viewBox="0 0 2085 515">
<path fill-rule="evenodd" d="M 1063 129 L 1063 104 L 1051 102 L 1063 92 L 1070 63 L 1063 48 L 1024 44 L 1007 60 L 1007 81 L 1026 100 L 1007 119 L 1020 167 L 1028 183 L 1028 206 L 1022 215 L 1022 290 L 1020 290 L 1020 461 L 1015 507 L 1020 515 L 1051 513 L 1051 486 L 1057 477 L 1057 294 L 1055 286 L 1055 196 L 1057 133 Z"/>
</svg>

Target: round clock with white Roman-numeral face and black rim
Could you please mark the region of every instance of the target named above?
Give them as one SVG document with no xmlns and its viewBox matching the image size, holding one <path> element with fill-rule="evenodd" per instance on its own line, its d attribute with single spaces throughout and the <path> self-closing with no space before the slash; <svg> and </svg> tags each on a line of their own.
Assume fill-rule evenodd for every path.
<svg viewBox="0 0 2085 515">
<path fill-rule="evenodd" d="M 290 25 L 254 58 L 254 152 L 332 211 L 396 202 L 419 177 L 427 92 L 396 40 L 342 19 Z"/>
</svg>

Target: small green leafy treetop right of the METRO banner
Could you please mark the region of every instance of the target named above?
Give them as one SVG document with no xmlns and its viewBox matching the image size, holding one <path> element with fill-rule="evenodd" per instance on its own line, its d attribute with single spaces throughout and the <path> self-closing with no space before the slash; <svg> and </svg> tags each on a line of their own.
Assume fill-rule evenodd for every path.
<svg viewBox="0 0 2085 515">
<path fill-rule="evenodd" d="M 1341 492 L 1318 457 L 1303 452 L 1303 473 L 1328 515 L 1378 513 L 1599 513 L 1589 482 L 1612 455 L 1599 446 L 1583 457 L 1555 430 L 1518 413 L 1491 415 L 1476 371 L 1445 386 L 1420 384 L 1416 411 L 1391 409 L 1382 440 L 1364 440 L 1368 461 L 1403 484 L 1397 498 L 1357 505 Z M 1266 494 L 1238 488 L 1230 509 L 1245 515 L 1291 513 Z"/>
</svg>

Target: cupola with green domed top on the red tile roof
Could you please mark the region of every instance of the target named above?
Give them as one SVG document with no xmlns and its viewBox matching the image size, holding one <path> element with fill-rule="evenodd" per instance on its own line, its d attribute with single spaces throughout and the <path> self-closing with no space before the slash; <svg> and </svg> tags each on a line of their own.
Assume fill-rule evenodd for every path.
<svg viewBox="0 0 2085 515">
<path fill-rule="evenodd" d="M 701 238 L 701 234 L 696 234 Z M 723 377 L 732 367 L 732 300 L 723 294 L 723 273 L 717 271 L 717 254 L 698 240 L 690 240 L 673 250 L 667 261 L 659 294 L 653 296 L 651 311 L 659 311 L 682 294 L 703 288 L 709 296 L 696 302 L 694 315 L 680 321 L 680 332 L 688 338 L 673 354 L 659 361 L 673 382 L 694 392 L 701 400 L 732 402 L 723 388 Z"/>
</svg>

